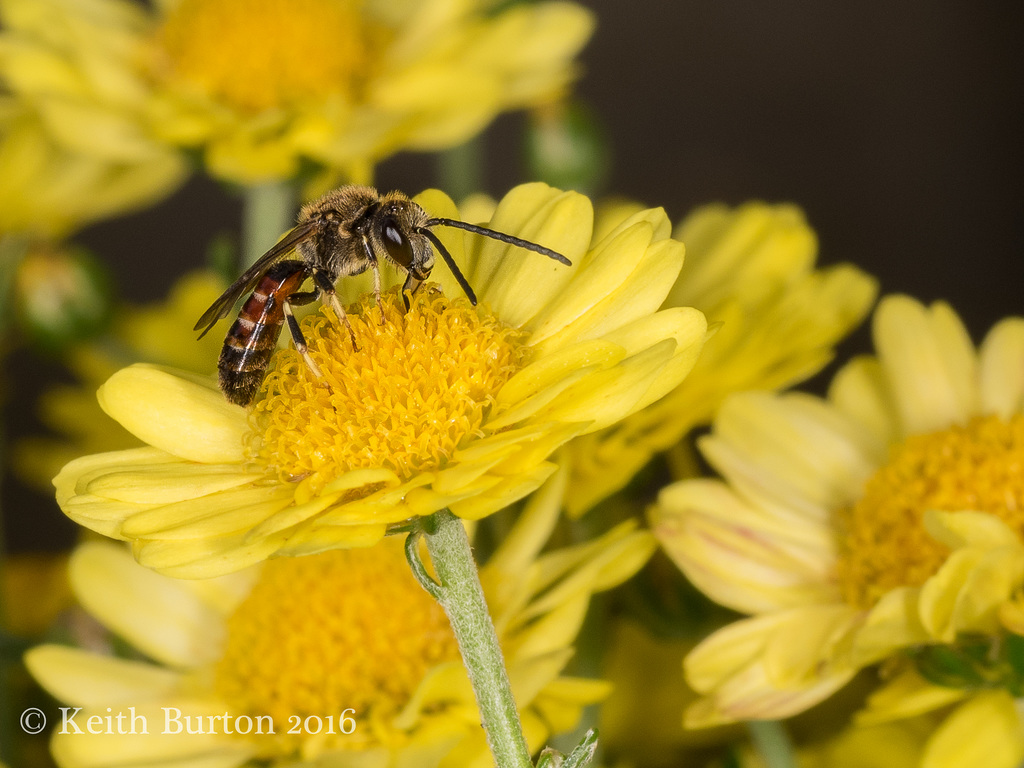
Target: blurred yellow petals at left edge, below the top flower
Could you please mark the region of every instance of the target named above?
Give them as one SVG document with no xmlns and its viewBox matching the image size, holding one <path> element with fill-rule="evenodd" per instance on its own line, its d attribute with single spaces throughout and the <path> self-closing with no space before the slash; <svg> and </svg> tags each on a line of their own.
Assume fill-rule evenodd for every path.
<svg viewBox="0 0 1024 768">
<path fill-rule="evenodd" d="M 0 72 L 9 50 L 3 42 L 0 33 Z M 159 200 L 183 175 L 181 160 L 167 150 L 81 154 L 55 137 L 32 106 L 0 96 L 0 236 L 58 240 Z"/>
</svg>

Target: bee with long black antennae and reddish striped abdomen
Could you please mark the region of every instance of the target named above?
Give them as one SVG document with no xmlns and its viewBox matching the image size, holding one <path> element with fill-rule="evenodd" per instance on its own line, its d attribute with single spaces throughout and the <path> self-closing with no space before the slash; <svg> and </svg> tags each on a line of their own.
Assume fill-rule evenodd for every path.
<svg viewBox="0 0 1024 768">
<path fill-rule="evenodd" d="M 319 368 L 309 355 L 293 306 L 308 304 L 317 298 L 326 299 L 348 329 L 355 347 L 355 333 L 335 293 L 335 284 L 341 278 L 372 269 L 374 295 L 379 305 L 381 259 L 406 272 L 401 295 L 407 310 L 410 294 L 416 293 L 434 267 L 433 249 L 437 249 L 475 305 L 473 289 L 452 254 L 434 234 L 435 226 L 465 229 L 571 266 L 560 253 L 536 243 L 456 219 L 432 218 L 402 193 L 381 195 L 370 186 L 342 186 L 303 206 L 298 224 L 234 281 L 196 324 L 194 330 L 202 331 L 199 338 L 203 338 L 218 321 L 230 313 L 242 296 L 249 294 L 227 332 L 217 362 L 220 388 L 227 399 L 239 406 L 252 402 L 278 345 L 281 328 L 286 324 L 296 351 L 309 370 L 321 376 Z M 301 290 L 310 279 L 311 289 Z"/>
</svg>

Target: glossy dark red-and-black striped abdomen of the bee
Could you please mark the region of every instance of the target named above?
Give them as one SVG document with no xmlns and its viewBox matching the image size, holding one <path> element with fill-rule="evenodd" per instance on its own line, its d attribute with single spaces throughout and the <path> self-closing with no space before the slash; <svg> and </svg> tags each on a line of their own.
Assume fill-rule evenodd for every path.
<svg viewBox="0 0 1024 768">
<path fill-rule="evenodd" d="M 231 402 L 253 401 L 285 323 L 285 302 L 308 276 L 305 262 L 280 261 L 246 299 L 220 350 L 220 388 Z"/>
</svg>

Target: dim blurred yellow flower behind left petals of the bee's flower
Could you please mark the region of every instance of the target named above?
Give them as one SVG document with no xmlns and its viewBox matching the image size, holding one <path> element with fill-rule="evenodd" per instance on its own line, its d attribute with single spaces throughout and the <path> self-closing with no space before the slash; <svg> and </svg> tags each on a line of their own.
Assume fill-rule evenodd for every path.
<svg viewBox="0 0 1024 768">
<path fill-rule="evenodd" d="M 110 338 L 71 350 L 66 361 L 80 384 L 56 386 L 40 397 L 40 419 L 63 437 L 19 440 L 13 452 L 17 473 L 41 488 L 51 487 L 53 475 L 73 459 L 137 446 L 138 438 L 99 408 L 96 388 L 128 361 L 208 372 L 216 365 L 220 341 L 205 337 L 197 342 L 191 326 L 224 288 L 224 282 L 212 272 L 186 274 L 165 301 L 122 309 Z"/>
</svg>

